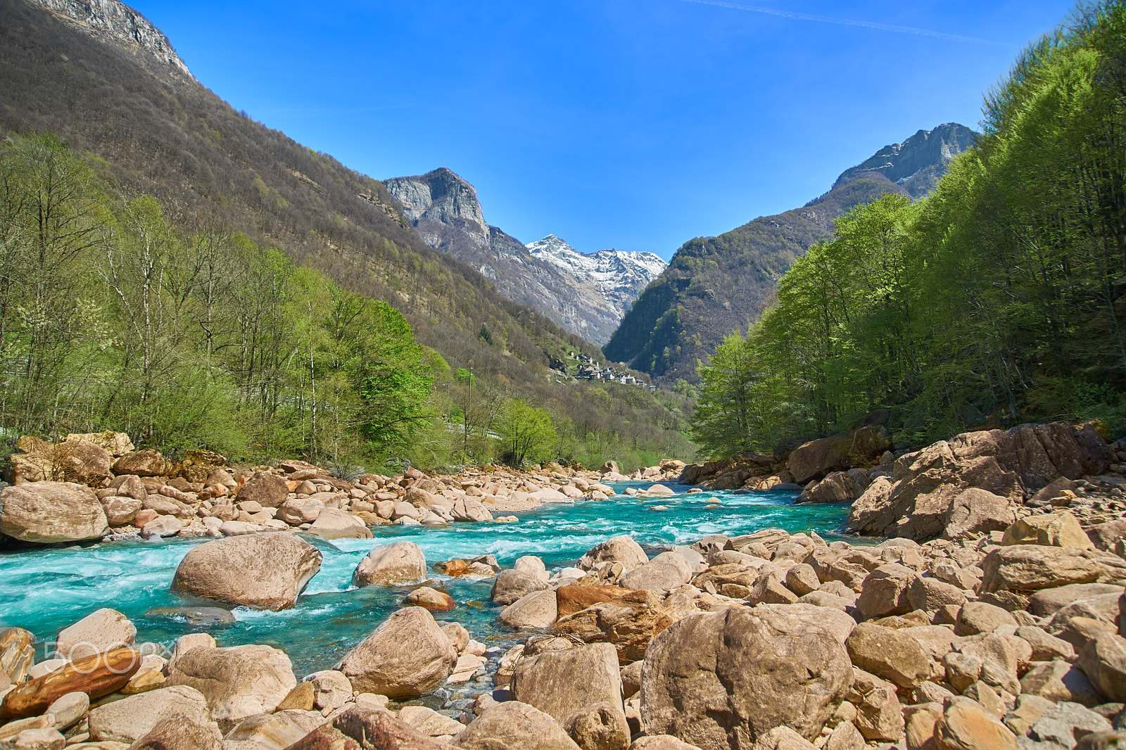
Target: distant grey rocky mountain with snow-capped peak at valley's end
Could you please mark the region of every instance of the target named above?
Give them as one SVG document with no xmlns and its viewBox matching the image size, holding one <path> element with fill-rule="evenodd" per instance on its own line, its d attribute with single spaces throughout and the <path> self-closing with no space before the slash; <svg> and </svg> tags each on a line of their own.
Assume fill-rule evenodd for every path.
<svg viewBox="0 0 1126 750">
<path fill-rule="evenodd" d="M 446 168 L 384 185 L 423 242 L 468 264 L 508 298 L 598 345 L 665 266 L 651 252 L 582 253 L 551 234 L 525 245 L 485 222 L 477 191 Z"/>
</svg>

